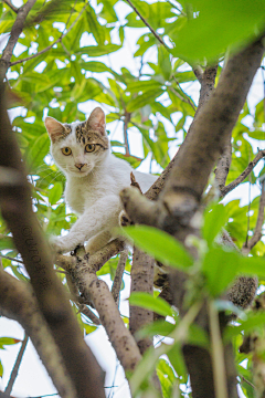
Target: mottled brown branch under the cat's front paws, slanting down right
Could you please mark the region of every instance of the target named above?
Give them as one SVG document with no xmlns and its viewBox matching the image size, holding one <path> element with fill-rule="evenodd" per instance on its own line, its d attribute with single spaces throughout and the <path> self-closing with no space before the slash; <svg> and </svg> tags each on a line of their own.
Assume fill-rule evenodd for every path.
<svg viewBox="0 0 265 398">
<path fill-rule="evenodd" d="M 75 258 L 72 258 L 71 261 L 63 260 L 64 263 L 60 262 L 59 265 L 63 266 L 67 263 L 67 271 L 71 273 L 82 297 L 87 303 L 92 302 L 98 312 L 102 325 L 106 329 L 120 364 L 125 370 L 134 370 L 141 358 L 140 352 L 129 331 L 125 327 L 124 321 L 120 318 L 118 307 L 107 284 L 96 275 L 99 264 L 103 264 L 104 261 L 106 262 L 113 256 L 113 251 L 109 249 L 112 243 L 108 243 L 91 256 L 85 253 L 84 249 L 77 249 Z M 120 244 L 118 240 L 117 243 Z M 67 256 L 60 255 L 57 263 L 62 258 L 65 259 Z M 104 259 L 104 261 L 100 260 L 99 262 L 98 259 Z"/>
</svg>

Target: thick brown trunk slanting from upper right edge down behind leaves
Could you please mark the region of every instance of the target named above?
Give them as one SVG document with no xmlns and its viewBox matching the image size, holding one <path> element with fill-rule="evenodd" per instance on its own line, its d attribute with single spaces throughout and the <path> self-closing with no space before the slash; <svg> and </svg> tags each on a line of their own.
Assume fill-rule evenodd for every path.
<svg viewBox="0 0 265 398">
<path fill-rule="evenodd" d="M 145 201 L 145 211 L 141 211 L 142 199 L 138 206 L 136 190 L 127 188 L 121 192 L 125 199 L 126 211 L 134 222 L 148 223 L 173 234 L 186 243 L 189 234 L 198 234 L 190 223 L 199 209 L 201 196 L 208 185 L 209 176 L 227 142 L 241 108 L 244 105 L 251 83 L 261 64 L 264 52 L 263 40 L 257 40 L 245 50 L 234 55 L 222 73 L 218 87 L 211 94 L 211 101 L 204 103 L 197 114 L 184 143 L 180 147 L 169 178 L 157 202 Z M 134 199 L 132 199 L 134 198 Z M 144 220 L 145 219 L 145 220 Z M 191 250 L 197 258 L 195 248 Z M 186 314 L 183 297 L 186 294 L 187 276 L 180 271 L 171 271 L 170 282 L 173 293 L 173 304 L 179 308 L 181 316 Z M 205 308 L 202 308 L 197 322 L 205 331 L 209 322 Z M 192 395 L 202 398 L 216 397 L 213 385 L 213 370 L 209 352 L 202 347 L 184 345 L 183 354 L 191 376 Z M 235 373 L 229 363 L 233 363 L 232 350 L 225 353 L 227 388 L 230 398 L 236 397 Z M 201 374 L 198 371 L 200 369 Z"/>
</svg>

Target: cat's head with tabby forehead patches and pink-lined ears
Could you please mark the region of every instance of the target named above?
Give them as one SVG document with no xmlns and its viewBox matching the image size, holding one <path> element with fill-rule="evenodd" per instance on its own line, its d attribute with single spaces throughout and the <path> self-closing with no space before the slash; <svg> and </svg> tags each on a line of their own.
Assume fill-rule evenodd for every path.
<svg viewBox="0 0 265 398">
<path fill-rule="evenodd" d="M 65 175 L 84 177 L 100 165 L 109 154 L 104 112 L 95 108 L 86 122 L 62 124 L 45 118 L 51 138 L 51 153 Z"/>
</svg>

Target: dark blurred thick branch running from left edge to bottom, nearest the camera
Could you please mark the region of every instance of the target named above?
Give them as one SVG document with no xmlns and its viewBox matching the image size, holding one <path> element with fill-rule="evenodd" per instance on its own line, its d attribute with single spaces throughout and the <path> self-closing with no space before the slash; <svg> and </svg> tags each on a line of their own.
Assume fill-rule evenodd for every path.
<svg viewBox="0 0 265 398">
<path fill-rule="evenodd" d="M 2 217 L 13 234 L 31 277 L 40 310 L 59 345 L 65 366 L 80 397 L 104 397 L 103 373 L 83 336 L 66 293 L 53 270 L 51 250 L 45 242 L 31 206 L 31 192 L 18 144 L 4 112 L 0 90 L 0 166 L 9 167 L 13 178 L 1 186 Z M 71 344 L 68 341 L 71 338 Z M 82 369 L 83 371 L 80 371 Z M 100 381 L 102 384 L 100 384 Z"/>
</svg>

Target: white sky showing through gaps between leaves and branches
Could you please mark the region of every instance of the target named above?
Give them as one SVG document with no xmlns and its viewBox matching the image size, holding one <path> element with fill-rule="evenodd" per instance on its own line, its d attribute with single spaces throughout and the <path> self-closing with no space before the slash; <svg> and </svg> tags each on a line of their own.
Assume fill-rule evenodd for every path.
<svg viewBox="0 0 265 398">
<path fill-rule="evenodd" d="M 21 1 L 14 0 L 13 3 L 17 7 L 20 7 Z M 123 20 L 125 15 L 130 11 L 130 8 L 126 6 L 125 3 L 120 2 L 118 7 L 116 7 L 116 12 L 118 13 L 119 18 Z M 107 65 L 109 65 L 115 71 L 119 72 L 121 66 L 127 67 L 136 75 L 138 74 L 139 70 L 139 59 L 134 59 L 132 54 L 136 50 L 136 42 L 139 36 L 139 30 L 135 29 L 126 29 L 126 35 L 125 35 L 125 45 L 121 50 L 119 50 L 116 53 L 113 53 L 108 56 L 100 56 L 98 60 L 102 62 L 106 62 Z M 3 45 L 2 42 L 0 44 Z M 94 40 L 91 35 L 85 35 L 82 40 L 81 45 L 91 45 L 95 44 Z M 17 51 L 19 53 L 19 45 L 17 46 Z M 145 60 L 149 60 L 152 62 L 156 62 L 156 50 L 155 48 L 150 49 L 148 53 L 145 55 Z M 95 59 L 97 60 L 97 59 Z M 148 66 L 147 66 L 148 67 Z M 45 73 L 45 72 L 44 72 Z M 87 77 L 91 75 L 97 75 L 103 78 L 103 74 L 95 74 L 95 73 L 88 73 Z M 192 98 L 198 102 L 199 97 L 199 83 L 186 83 L 181 85 L 182 88 L 192 96 Z M 263 92 L 263 77 L 261 71 L 258 71 L 255 81 L 253 83 L 251 93 L 248 95 L 248 104 L 251 108 L 258 103 L 264 96 Z M 167 101 L 167 100 L 166 100 Z M 78 106 L 78 108 L 83 112 L 86 112 L 87 115 L 91 113 L 91 111 L 95 107 L 95 102 L 89 101 L 87 103 L 83 103 Z M 108 108 L 106 106 L 103 106 L 105 111 Z M 21 112 L 21 108 L 19 109 Z M 176 121 L 178 121 L 179 116 L 178 113 L 174 114 Z M 165 122 L 165 121 L 163 121 Z M 250 121 L 246 121 L 250 123 Z M 173 136 L 174 129 L 173 126 L 168 122 L 167 123 L 167 132 L 169 136 Z M 188 127 L 188 126 L 187 126 Z M 116 125 L 116 122 L 108 125 L 108 128 L 110 129 L 110 138 L 123 142 L 123 128 L 121 124 L 119 126 Z M 171 135 L 172 134 L 172 135 Z M 135 129 L 131 128 L 128 132 L 128 138 L 129 138 L 129 146 L 130 146 L 130 153 L 131 155 L 144 157 L 144 151 L 141 147 L 141 135 Z M 169 154 L 170 157 L 172 157 L 176 153 L 177 144 L 173 142 L 170 143 L 170 149 Z M 252 145 L 256 148 L 259 145 L 259 148 L 265 148 L 265 142 L 257 142 L 252 140 Z M 141 171 L 149 171 L 150 167 L 150 159 L 147 159 L 142 161 L 139 169 Z M 256 170 L 258 168 L 263 167 L 262 161 L 256 167 Z M 156 161 L 152 161 L 152 172 L 158 172 L 160 169 L 159 166 L 156 165 Z M 230 201 L 232 199 L 240 198 L 241 205 L 246 205 L 248 201 L 248 184 L 244 184 L 243 187 L 235 189 L 233 192 L 227 195 L 226 201 Z M 252 187 L 252 199 L 259 195 L 259 189 L 257 186 Z M 109 277 L 104 277 L 108 283 L 110 283 Z M 121 292 L 121 313 L 124 315 L 128 315 L 128 304 L 125 302 L 125 298 L 129 296 L 129 277 L 128 275 L 125 275 L 126 281 L 126 287 Z M 23 339 L 24 332 L 22 327 L 14 321 L 7 320 L 4 317 L 0 317 L 0 337 L 1 336 L 10 336 L 14 338 Z M 92 333 L 86 337 L 86 342 L 89 345 L 91 349 L 97 357 L 97 360 L 99 362 L 100 366 L 104 370 L 106 370 L 106 380 L 105 386 L 112 386 L 114 383 L 114 386 L 118 386 L 115 389 L 106 389 L 106 397 L 115 397 L 115 398 L 129 398 L 130 394 L 128 390 L 127 381 L 124 378 L 124 371 L 120 365 L 117 366 L 117 373 L 116 373 L 116 354 L 114 349 L 112 348 L 106 333 L 103 329 L 103 327 L 99 327 L 96 332 Z M 7 387 L 10 373 L 12 370 L 12 367 L 14 365 L 18 352 L 21 347 L 21 344 L 17 344 L 13 346 L 7 346 L 6 350 L 0 350 L 0 358 L 3 364 L 4 374 L 3 378 L 0 379 L 0 389 L 3 390 Z M 115 381 L 114 381 L 114 375 L 116 373 Z M 28 343 L 28 347 L 22 360 L 22 364 L 20 366 L 19 376 L 15 380 L 14 388 L 12 390 L 12 395 L 14 397 L 40 397 L 44 395 L 54 394 L 55 389 L 46 375 L 45 368 L 40 363 L 40 359 L 34 350 L 34 347 L 32 346 L 31 342 Z M 115 392 L 115 394 L 114 394 Z M 114 394 L 114 395 L 113 395 Z"/>
</svg>

